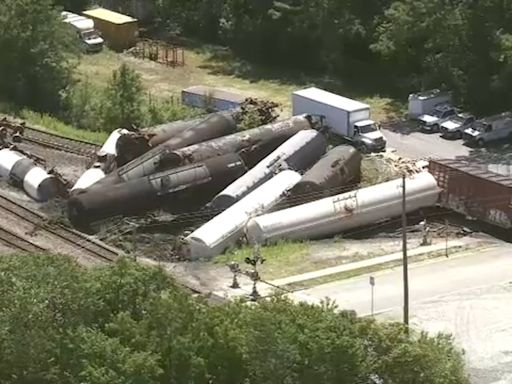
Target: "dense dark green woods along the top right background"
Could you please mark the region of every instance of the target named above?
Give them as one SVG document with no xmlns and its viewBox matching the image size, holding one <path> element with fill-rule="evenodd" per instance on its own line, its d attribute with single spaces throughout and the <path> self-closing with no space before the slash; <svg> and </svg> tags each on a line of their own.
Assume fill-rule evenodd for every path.
<svg viewBox="0 0 512 384">
<path fill-rule="evenodd" d="M 155 1 L 162 26 L 287 71 L 400 95 L 445 87 L 480 113 L 512 102 L 512 8 L 499 0 Z M 169 24 L 172 20 L 173 24 Z"/>
</svg>

